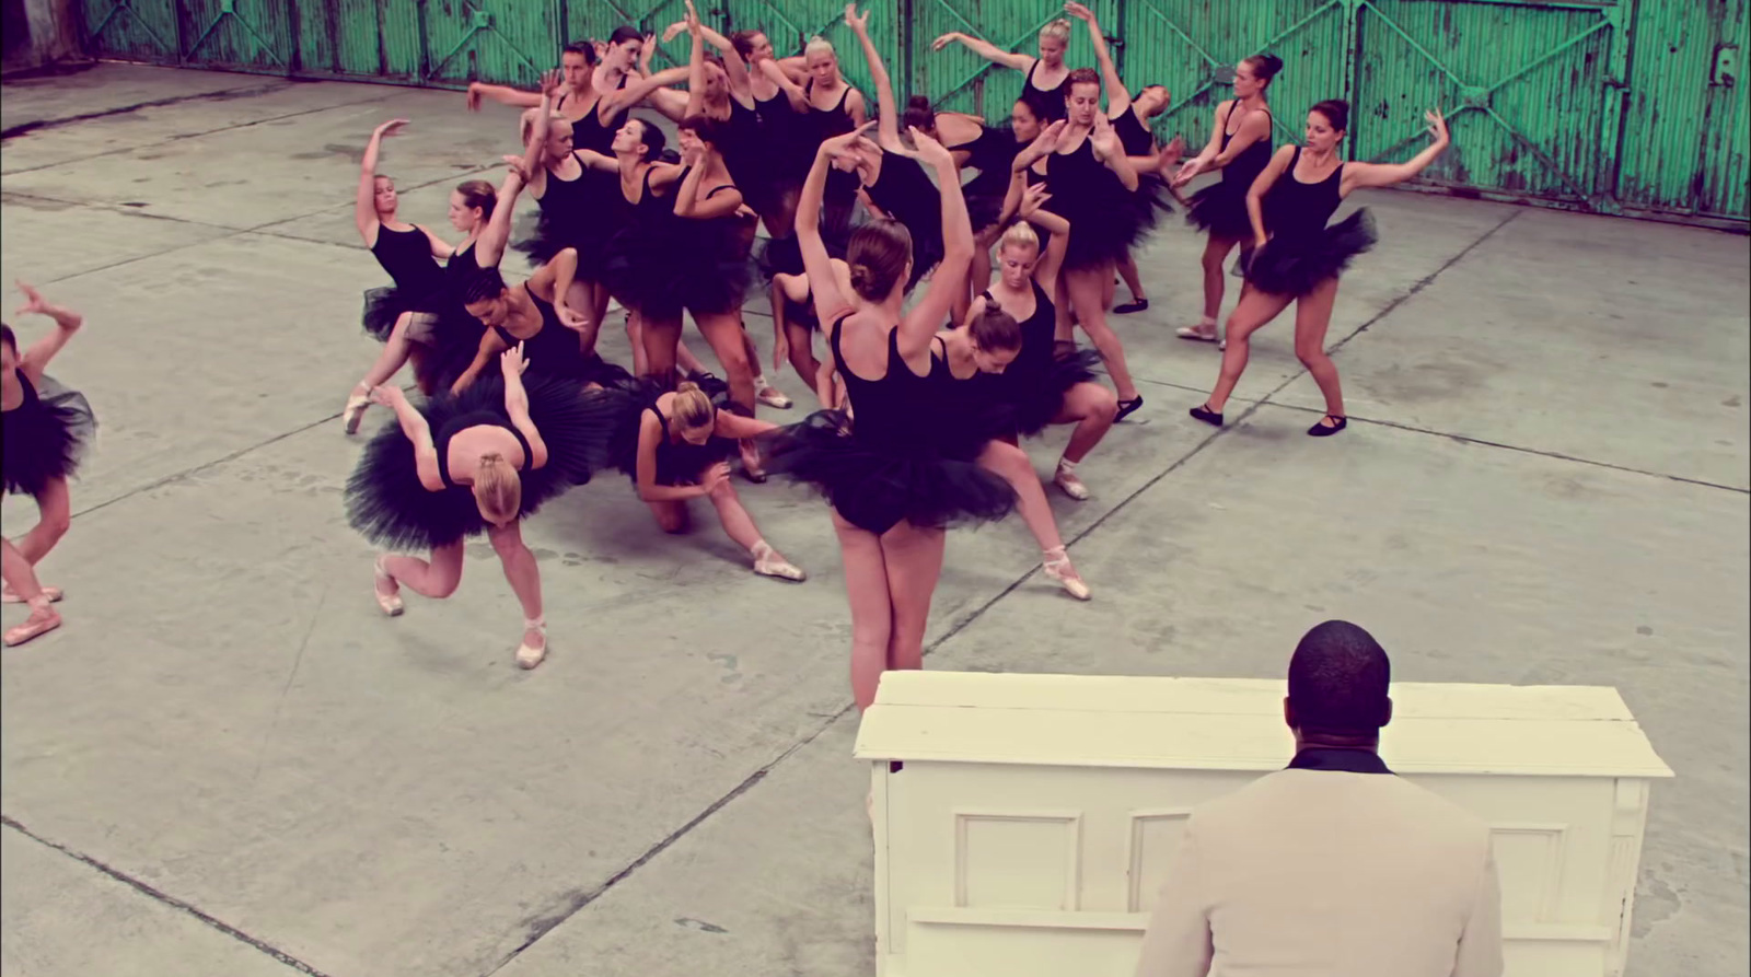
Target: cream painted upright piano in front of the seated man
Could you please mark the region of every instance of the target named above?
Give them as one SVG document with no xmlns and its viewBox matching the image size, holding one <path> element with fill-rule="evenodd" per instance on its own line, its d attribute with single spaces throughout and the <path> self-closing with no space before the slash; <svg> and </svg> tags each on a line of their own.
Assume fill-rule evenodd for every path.
<svg viewBox="0 0 1751 977">
<path fill-rule="evenodd" d="M 881 977 L 1131 977 L 1189 809 L 1294 753 L 1285 685 L 888 672 L 863 716 Z M 1495 830 L 1508 977 L 1616 977 L 1670 777 L 1613 688 L 1392 686 L 1382 756 Z"/>
</svg>

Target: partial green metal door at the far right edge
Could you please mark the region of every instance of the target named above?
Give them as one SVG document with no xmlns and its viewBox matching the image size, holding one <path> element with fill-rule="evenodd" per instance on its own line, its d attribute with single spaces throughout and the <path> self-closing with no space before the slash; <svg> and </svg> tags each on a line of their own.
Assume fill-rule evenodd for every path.
<svg viewBox="0 0 1751 977">
<path fill-rule="evenodd" d="M 1746 219 L 1744 0 L 1642 0 L 1620 154 L 1630 210 Z"/>
</svg>

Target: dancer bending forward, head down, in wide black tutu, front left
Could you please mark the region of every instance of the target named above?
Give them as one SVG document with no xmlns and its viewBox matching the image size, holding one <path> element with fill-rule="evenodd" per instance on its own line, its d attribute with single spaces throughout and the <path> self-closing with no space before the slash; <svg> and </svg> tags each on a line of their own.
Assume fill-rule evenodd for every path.
<svg viewBox="0 0 1751 977">
<path fill-rule="evenodd" d="M 440 396 L 415 408 L 399 387 L 371 390 L 396 411 L 366 445 L 347 481 L 347 517 L 373 545 L 427 550 L 429 559 L 376 557 L 376 606 L 403 613 L 401 588 L 431 599 L 455 594 L 464 543 L 482 532 L 504 566 L 524 609 L 517 665 L 546 657 L 541 571 L 522 538 L 522 520 L 571 485 L 590 480 L 608 460 L 615 413 L 576 383 L 531 380 L 522 347 L 499 355 L 497 380 L 462 396 Z"/>
</svg>

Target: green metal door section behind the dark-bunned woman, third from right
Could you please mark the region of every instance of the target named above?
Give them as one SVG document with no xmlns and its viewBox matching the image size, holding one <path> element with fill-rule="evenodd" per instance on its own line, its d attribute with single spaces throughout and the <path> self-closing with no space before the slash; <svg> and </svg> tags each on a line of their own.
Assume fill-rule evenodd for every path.
<svg viewBox="0 0 1751 977">
<path fill-rule="evenodd" d="M 1269 89 L 1276 142 L 1297 140 L 1308 105 L 1348 91 L 1350 7 L 1347 0 L 1128 0 L 1124 81 L 1131 91 L 1168 86 L 1173 103 L 1156 119 L 1156 131 L 1185 137 L 1187 152 L 1196 154 L 1210 138 L 1215 107 L 1233 98 L 1215 70 L 1276 54 L 1283 60 Z"/>
</svg>

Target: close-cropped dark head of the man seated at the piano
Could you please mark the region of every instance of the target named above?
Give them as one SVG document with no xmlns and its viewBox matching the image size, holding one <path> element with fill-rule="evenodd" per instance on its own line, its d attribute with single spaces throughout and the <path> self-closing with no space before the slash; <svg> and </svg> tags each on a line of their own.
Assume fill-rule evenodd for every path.
<svg viewBox="0 0 1751 977">
<path fill-rule="evenodd" d="M 1375 636 L 1350 622 L 1317 625 L 1289 660 L 1289 725 L 1304 739 L 1378 739 L 1392 718 L 1390 681 Z"/>
</svg>

